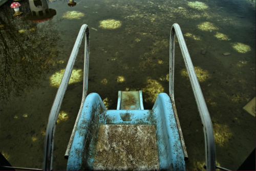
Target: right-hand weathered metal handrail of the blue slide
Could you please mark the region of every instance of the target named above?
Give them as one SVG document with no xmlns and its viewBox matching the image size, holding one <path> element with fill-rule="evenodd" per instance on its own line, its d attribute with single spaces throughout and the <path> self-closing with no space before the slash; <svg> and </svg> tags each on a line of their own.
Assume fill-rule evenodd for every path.
<svg viewBox="0 0 256 171">
<path fill-rule="evenodd" d="M 205 160 L 206 160 L 206 169 L 207 170 L 216 170 L 216 161 L 215 161 L 215 140 L 214 140 L 214 131 L 212 129 L 210 115 L 204 101 L 203 93 L 200 88 L 196 72 L 194 70 L 193 63 L 189 56 L 187 46 L 182 35 L 180 26 L 177 23 L 174 23 L 172 29 L 170 30 L 170 61 L 169 61 L 169 96 L 174 101 L 174 55 L 175 55 L 175 35 L 178 38 L 180 45 L 181 53 L 186 65 L 188 77 L 195 95 L 197 102 L 199 114 L 201 116 L 204 139 L 205 139 Z"/>
</svg>

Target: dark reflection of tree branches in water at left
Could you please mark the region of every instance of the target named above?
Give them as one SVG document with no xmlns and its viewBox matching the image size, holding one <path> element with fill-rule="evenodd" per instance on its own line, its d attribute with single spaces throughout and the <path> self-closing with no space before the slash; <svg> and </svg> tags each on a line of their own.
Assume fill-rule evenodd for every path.
<svg viewBox="0 0 256 171">
<path fill-rule="evenodd" d="M 0 96 L 4 100 L 40 85 L 57 61 L 56 41 L 60 40 L 54 21 L 15 18 L 11 10 L 0 11 Z"/>
</svg>

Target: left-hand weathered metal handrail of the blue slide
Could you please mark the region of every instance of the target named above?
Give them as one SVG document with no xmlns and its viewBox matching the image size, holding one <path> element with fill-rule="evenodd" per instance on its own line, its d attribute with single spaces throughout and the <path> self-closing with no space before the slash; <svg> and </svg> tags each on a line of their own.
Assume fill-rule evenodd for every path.
<svg viewBox="0 0 256 171">
<path fill-rule="evenodd" d="M 71 77 L 71 73 L 75 64 L 75 60 L 79 51 L 79 47 L 82 43 L 82 38 L 86 33 L 85 45 L 84 45 L 84 70 L 83 70 L 83 93 L 82 93 L 82 103 L 86 99 L 88 90 L 88 65 L 89 65 L 89 46 L 90 46 L 90 34 L 89 27 L 87 25 L 82 25 L 81 29 L 76 38 L 73 50 L 71 52 L 66 70 L 62 77 L 61 83 L 59 85 L 57 94 L 55 96 L 52 109 L 48 119 L 48 125 L 46 129 L 46 139 L 45 139 L 45 152 L 44 152 L 44 165 L 43 170 L 52 170 L 53 161 L 53 144 L 54 144 L 54 133 L 56 128 L 56 121 L 58 118 L 58 113 L 60 106 L 62 104 L 63 97 L 68 87 L 68 83 Z"/>
</svg>

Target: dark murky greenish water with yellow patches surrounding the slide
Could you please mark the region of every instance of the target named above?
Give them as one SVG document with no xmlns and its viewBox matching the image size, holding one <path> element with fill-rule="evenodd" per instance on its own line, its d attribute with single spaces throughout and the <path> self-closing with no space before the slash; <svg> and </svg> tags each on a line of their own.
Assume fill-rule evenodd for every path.
<svg viewBox="0 0 256 171">
<path fill-rule="evenodd" d="M 58 85 L 54 76 L 65 69 L 83 23 L 91 36 L 89 93 L 99 93 L 109 109 L 116 108 L 118 90 L 143 90 L 145 109 L 159 92 L 168 93 L 169 32 L 179 23 L 214 126 L 217 164 L 237 169 L 255 148 L 255 117 L 242 109 L 255 96 L 255 1 L 77 0 L 74 7 L 48 1 L 56 15 L 44 22 L 31 21 L 28 1 L 20 2 L 24 16 L 14 17 L 11 3 L 0 7 L 0 151 L 12 165 L 42 167 Z M 222 55 L 227 52 L 231 55 Z M 82 94 L 82 54 L 56 128 L 55 170 L 67 165 L 63 156 Z M 176 48 L 175 96 L 189 155 L 186 169 L 201 170 L 204 136 L 184 68 Z"/>
</svg>

